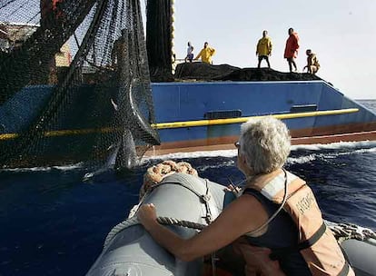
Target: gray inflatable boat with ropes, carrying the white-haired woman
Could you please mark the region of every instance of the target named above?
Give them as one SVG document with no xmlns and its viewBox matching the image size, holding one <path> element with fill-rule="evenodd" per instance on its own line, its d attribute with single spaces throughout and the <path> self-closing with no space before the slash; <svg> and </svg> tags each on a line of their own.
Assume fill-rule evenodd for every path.
<svg viewBox="0 0 376 276">
<path fill-rule="evenodd" d="M 203 178 L 173 173 L 165 177 L 153 191 L 146 193 L 140 204 L 153 202 L 160 222 L 172 224 L 167 227 L 188 238 L 214 220 L 222 212 L 223 206 L 233 200 L 233 194 L 224 192 L 223 188 L 223 185 Z M 104 250 L 86 275 L 203 275 L 203 259 L 180 261 L 153 241 L 136 220 L 134 214 L 138 206 L 134 206 L 129 218 L 116 225 L 107 235 Z M 328 226 L 341 229 L 341 225 L 332 222 Z M 361 228 L 351 229 L 352 232 L 362 234 Z M 366 237 L 363 235 L 364 241 L 352 238 L 341 242 L 356 275 L 376 275 L 376 240 L 370 238 L 373 232 L 368 233 Z M 235 262 L 227 260 L 227 263 Z"/>
</svg>

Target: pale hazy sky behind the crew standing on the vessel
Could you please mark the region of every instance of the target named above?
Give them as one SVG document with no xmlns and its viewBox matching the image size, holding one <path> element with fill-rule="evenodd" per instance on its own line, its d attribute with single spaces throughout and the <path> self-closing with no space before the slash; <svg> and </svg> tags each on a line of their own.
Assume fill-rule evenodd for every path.
<svg viewBox="0 0 376 276">
<path fill-rule="evenodd" d="M 376 0 L 175 0 L 174 52 L 184 58 L 191 41 L 198 54 L 207 41 L 216 50 L 213 64 L 256 67 L 256 44 L 268 30 L 272 69 L 288 72 L 283 51 L 292 27 L 300 72 L 310 48 L 321 64 L 318 76 L 351 99 L 376 99 L 375 12 Z"/>
</svg>

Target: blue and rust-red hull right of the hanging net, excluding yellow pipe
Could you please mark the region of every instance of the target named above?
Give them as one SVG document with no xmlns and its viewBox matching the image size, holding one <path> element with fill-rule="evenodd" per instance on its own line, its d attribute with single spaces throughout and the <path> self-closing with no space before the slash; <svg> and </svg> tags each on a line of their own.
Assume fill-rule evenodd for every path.
<svg viewBox="0 0 376 276">
<path fill-rule="evenodd" d="M 376 115 L 323 81 L 160 83 L 153 84 L 153 101 L 158 123 L 200 121 L 221 112 L 252 117 L 357 108 L 283 121 L 293 143 L 376 140 Z M 240 123 L 161 129 L 162 145 L 154 153 L 233 148 L 239 131 Z"/>
</svg>

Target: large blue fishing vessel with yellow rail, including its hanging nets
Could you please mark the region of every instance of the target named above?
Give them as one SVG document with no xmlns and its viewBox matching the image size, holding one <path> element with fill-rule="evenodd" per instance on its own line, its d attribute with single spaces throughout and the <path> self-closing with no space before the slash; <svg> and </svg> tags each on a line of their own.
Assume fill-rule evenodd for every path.
<svg viewBox="0 0 376 276">
<path fill-rule="evenodd" d="M 30 19 L 0 23 L 2 166 L 115 153 L 132 167 L 143 155 L 233 149 L 240 124 L 264 115 L 282 119 L 293 144 L 376 140 L 376 114 L 315 75 L 175 66 L 171 0 L 148 3 L 146 39 L 135 0 L 13 2 L 4 15 L 20 21 L 30 5 Z"/>
</svg>

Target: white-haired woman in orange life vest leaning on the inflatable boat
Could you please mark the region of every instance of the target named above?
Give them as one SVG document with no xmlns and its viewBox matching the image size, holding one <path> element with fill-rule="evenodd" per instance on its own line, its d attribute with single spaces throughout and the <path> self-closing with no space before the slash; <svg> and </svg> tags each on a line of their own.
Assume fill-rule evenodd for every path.
<svg viewBox="0 0 376 276">
<path fill-rule="evenodd" d="M 153 204 L 143 205 L 138 218 L 153 239 L 183 261 L 234 243 L 246 275 L 353 273 L 311 189 L 282 168 L 291 146 L 286 125 L 272 116 L 250 120 L 235 145 L 237 166 L 246 177 L 242 194 L 188 240 L 156 222 Z"/>
</svg>

